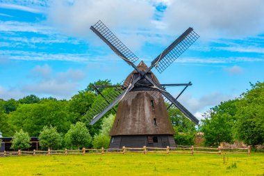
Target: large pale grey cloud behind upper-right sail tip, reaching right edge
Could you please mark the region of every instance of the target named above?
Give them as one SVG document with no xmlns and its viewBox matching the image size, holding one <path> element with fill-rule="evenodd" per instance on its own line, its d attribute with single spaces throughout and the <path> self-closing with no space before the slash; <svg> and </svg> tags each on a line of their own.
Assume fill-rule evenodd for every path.
<svg viewBox="0 0 264 176">
<path fill-rule="evenodd" d="M 262 0 L 179 0 L 167 7 L 164 22 L 171 31 L 193 26 L 203 38 L 246 38 L 264 31 Z"/>
</svg>

